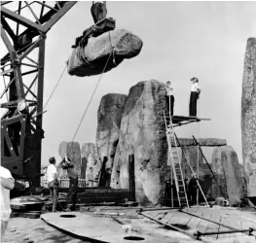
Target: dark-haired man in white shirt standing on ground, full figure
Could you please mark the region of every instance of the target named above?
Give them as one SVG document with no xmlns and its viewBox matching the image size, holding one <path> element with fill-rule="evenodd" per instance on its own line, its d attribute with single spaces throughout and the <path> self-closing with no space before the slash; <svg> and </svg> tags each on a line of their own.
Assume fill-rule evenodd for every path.
<svg viewBox="0 0 256 243">
<path fill-rule="evenodd" d="M 53 202 L 53 212 L 56 212 L 56 202 L 57 202 L 57 189 L 58 189 L 58 181 L 57 181 L 57 170 L 55 167 L 55 157 L 50 157 L 49 159 L 50 165 L 47 167 L 47 180 L 48 187 L 50 189 L 50 197 Z"/>
</svg>

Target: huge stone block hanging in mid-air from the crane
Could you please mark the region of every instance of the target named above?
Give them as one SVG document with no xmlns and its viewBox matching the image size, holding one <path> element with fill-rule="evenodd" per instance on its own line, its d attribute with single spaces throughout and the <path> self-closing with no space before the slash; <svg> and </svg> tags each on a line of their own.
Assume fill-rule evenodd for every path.
<svg viewBox="0 0 256 243">
<path fill-rule="evenodd" d="M 107 72 L 125 58 L 138 55 L 142 46 L 141 39 L 127 30 L 111 30 L 89 38 L 86 47 L 77 47 L 68 59 L 67 71 L 79 77 L 98 75 L 102 70 Z M 109 58 L 113 53 L 114 57 Z"/>
</svg>

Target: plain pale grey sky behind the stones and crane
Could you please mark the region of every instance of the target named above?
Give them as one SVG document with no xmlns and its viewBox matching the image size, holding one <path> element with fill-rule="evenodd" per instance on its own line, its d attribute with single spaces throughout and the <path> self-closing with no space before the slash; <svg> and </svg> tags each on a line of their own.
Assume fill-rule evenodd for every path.
<svg viewBox="0 0 256 243">
<path fill-rule="evenodd" d="M 104 94 L 128 94 L 140 81 L 171 81 L 174 115 L 189 112 L 190 78 L 201 86 L 198 116 L 210 118 L 178 128 L 180 137 L 225 138 L 241 161 L 240 98 L 244 52 L 256 36 L 256 2 L 107 2 L 108 17 L 143 41 L 140 54 L 103 75 L 75 141 L 95 142 L 97 108 Z M 77 3 L 50 30 L 46 42 L 45 102 L 75 38 L 93 24 L 91 1 Z M 42 163 L 71 141 L 99 76 L 65 73 L 44 115 Z"/>
</svg>

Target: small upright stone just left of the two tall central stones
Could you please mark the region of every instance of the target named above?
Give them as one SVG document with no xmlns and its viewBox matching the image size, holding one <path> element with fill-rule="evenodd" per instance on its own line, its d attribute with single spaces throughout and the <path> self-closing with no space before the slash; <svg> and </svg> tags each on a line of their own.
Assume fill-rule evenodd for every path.
<svg viewBox="0 0 256 243">
<path fill-rule="evenodd" d="M 98 179 L 98 173 L 100 171 L 100 163 L 97 161 L 96 147 L 94 144 L 84 143 L 82 145 L 82 161 L 87 164 L 85 174 L 87 185 L 94 186 L 95 183 L 91 180 Z"/>
</svg>

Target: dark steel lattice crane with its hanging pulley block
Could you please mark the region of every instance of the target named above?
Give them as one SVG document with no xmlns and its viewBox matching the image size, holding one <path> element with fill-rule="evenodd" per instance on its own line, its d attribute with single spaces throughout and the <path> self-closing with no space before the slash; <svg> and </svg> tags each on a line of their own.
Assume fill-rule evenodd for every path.
<svg viewBox="0 0 256 243">
<path fill-rule="evenodd" d="M 1 92 L 1 108 L 5 109 L 1 117 L 1 164 L 16 178 L 32 180 L 35 187 L 40 186 L 44 138 L 46 37 L 76 3 L 1 2 L 1 37 L 8 51 L 1 58 L 1 77 L 5 85 Z M 26 14 L 28 12 L 32 19 Z M 106 14 L 106 2 L 92 2 L 94 23 Z M 99 34 L 109 29 L 102 22 L 99 28 Z"/>
</svg>

